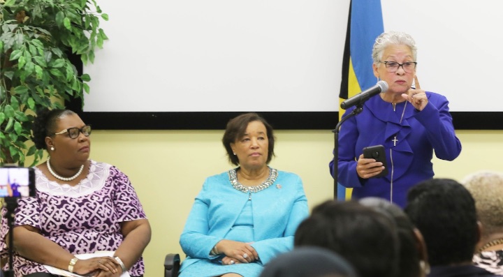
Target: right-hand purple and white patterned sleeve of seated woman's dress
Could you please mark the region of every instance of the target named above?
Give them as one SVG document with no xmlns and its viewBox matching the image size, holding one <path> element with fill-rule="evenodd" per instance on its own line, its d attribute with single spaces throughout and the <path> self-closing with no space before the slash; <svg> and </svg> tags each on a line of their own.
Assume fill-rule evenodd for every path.
<svg viewBox="0 0 503 277">
<path fill-rule="evenodd" d="M 114 202 L 117 220 L 122 222 L 147 218 L 138 195 L 136 195 L 136 191 L 126 174 L 117 167 L 110 167 L 110 177 L 115 187 Z"/>
</svg>

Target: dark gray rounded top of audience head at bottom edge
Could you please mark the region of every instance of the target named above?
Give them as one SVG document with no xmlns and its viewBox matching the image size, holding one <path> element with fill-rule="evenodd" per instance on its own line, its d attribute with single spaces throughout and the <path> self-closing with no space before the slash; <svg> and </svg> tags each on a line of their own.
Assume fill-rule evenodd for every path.
<svg viewBox="0 0 503 277">
<path fill-rule="evenodd" d="M 304 246 L 275 257 L 260 277 L 357 277 L 347 260 L 326 248 Z"/>
</svg>

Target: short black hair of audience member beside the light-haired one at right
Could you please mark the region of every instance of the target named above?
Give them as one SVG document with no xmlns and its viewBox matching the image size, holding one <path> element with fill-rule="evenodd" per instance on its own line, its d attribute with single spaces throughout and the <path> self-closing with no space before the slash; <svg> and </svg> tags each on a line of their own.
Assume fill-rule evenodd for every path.
<svg viewBox="0 0 503 277">
<path fill-rule="evenodd" d="M 479 241 L 475 201 L 453 179 L 429 179 L 407 194 L 405 212 L 421 231 L 432 266 L 472 261 Z"/>
</svg>

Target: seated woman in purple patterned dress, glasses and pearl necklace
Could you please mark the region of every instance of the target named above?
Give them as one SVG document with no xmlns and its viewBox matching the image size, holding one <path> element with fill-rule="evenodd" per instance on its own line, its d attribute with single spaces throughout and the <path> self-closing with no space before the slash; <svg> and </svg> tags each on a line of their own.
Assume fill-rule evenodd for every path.
<svg viewBox="0 0 503 277">
<path fill-rule="evenodd" d="M 128 177 L 115 166 L 89 160 L 90 133 L 71 110 L 38 113 L 34 144 L 49 156 L 35 167 L 36 197 L 17 200 L 15 232 L 2 217 L 1 257 L 8 258 L 7 239 L 13 233 L 16 277 L 54 276 L 44 265 L 97 277 L 123 271 L 143 276 L 150 223 Z M 114 254 L 75 257 L 96 251 Z"/>
</svg>

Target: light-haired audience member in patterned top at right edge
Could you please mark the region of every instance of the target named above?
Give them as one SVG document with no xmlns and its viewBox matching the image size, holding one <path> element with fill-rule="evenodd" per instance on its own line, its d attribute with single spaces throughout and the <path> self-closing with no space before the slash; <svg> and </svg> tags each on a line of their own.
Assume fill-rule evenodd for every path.
<svg viewBox="0 0 503 277">
<path fill-rule="evenodd" d="M 476 172 L 461 183 L 472 193 L 482 223 L 473 261 L 477 267 L 503 275 L 503 173 Z"/>
</svg>

